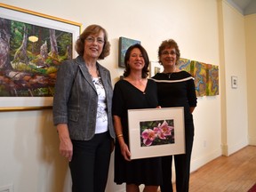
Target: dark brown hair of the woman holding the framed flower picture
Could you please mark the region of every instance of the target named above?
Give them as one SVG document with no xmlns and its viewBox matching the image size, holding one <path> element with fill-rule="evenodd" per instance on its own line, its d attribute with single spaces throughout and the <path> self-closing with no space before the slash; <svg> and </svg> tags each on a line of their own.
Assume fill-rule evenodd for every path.
<svg viewBox="0 0 256 192">
<path fill-rule="evenodd" d="M 135 48 L 140 49 L 140 52 L 141 52 L 142 57 L 144 59 L 145 65 L 144 65 L 144 68 L 142 68 L 141 77 L 146 78 L 148 76 L 148 65 L 149 65 L 148 53 L 146 52 L 144 47 L 142 47 L 140 44 L 133 44 L 125 52 L 125 56 L 124 56 L 124 64 L 125 64 L 124 77 L 129 76 L 130 73 L 131 73 L 131 68 L 128 65 L 128 60 L 130 59 L 132 50 L 135 49 Z"/>
</svg>

